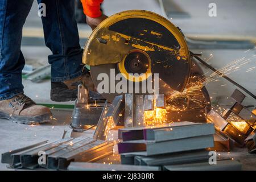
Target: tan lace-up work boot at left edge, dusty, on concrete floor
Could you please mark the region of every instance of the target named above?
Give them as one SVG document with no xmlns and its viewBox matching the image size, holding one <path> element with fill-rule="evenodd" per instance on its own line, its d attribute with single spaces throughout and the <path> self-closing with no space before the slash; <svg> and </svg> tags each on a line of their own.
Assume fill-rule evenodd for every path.
<svg viewBox="0 0 256 182">
<path fill-rule="evenodd" d="M 26 125 L 44 123 L 52 118 L 51 111 L 45 106 L 36 105 L 25 94 L 0 101 L 0 118 Z"/>
</svg>

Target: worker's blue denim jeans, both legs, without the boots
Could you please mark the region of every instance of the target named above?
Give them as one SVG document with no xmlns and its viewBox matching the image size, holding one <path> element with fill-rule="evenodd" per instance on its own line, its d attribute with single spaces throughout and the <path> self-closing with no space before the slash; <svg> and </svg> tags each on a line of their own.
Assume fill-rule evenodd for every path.
<svg viewBox="0 0 256 182">
<path fill-rule="evenodd" d="M 20 51 L 22 28 L 34 0 L 0 1 L 0 100 L 23 93 Z M 42 16 L 44 39 L 51 49 L 51 81 L 65 81 L 82 74 L 82 49 L 75 20 L 75 0 L 38 0 L 46 4 Z M 37 15 L 35 15 L 37 16 Z"/>
</svg>

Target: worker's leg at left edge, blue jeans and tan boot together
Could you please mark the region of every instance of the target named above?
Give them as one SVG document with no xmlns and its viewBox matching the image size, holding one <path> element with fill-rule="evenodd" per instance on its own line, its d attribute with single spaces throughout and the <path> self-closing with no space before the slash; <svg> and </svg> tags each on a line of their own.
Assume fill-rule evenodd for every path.
<svg viewBox="0 0 256 182">
<path fill-rule="evenodd" d="M 0 118 L 18 123 L 40 123 L 51 119 L 51 111 L 23 94 L 20 51 L 22 27 L 33 0 L 0 1 Z"/>
</svg>

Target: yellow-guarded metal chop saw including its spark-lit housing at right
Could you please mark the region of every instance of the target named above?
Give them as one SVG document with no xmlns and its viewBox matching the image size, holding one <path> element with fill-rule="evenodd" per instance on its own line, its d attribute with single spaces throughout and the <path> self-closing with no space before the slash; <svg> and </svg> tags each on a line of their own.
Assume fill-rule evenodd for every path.
<svg viewBox="0 0 256 182">
<path fill-rule="evenodd" d="M 139 94 L 147 94 L 147 89 L 146 92 L 142 91 L 143 86 L 147 85 L 143 83 L 148 80 L 154 83 L 157 73 L 159 93 L 168 98 L 167 104 L 172 108 L 168 111 L 170 119 L 188 121 L 192 117 L 189 112 L 200 115 L 205 109 L 209 109 L 209 96 L 203 85 L 197 90 L 199 94 L 196 94 L 197 101 L 201 100 L 199 105 L 197 102 L 193 103 L 193 98 L 186 94 L 179 94 L 191 82 L 201 80 L 203 72 L 193 63 L 181 30 L 158 14 L 130 10 L 110 16 L 90 35 L 82 61 L 90 65 L 96 88 L 102 87 L 104 78 L 109 80 L 103 86 L 105 92 L 101 93 L 109 102 L 122 94 L 115 89 L 121 80 L 126 82 L 122 87 L 126 87 L 127 92 L 135 92 L 135 89 L 138 92 L 139 88 Z M 118 73 L 121 76 L 116 78 Z M 172 98 L 172 95 L 175 97 Z M 180 112 L 188 114 L 184 114 L 182 118 Z M 193 120 L 199 121 L 198 118 L 189 119 Z"/>
</svg>

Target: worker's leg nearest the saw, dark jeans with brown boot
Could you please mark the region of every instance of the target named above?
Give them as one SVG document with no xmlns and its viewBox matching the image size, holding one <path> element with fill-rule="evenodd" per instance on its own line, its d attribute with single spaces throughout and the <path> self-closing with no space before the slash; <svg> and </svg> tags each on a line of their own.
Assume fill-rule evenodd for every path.
<svg viewBox="0 0 256 182">
<path fill-rule="evenodd" d="M 48 57 L 51 68 L 51 100 L 70 101 L 77 98 L 77 84 L 84 82 L 93 88 L 90 75 L 85 73 L 79 33 L 75 20 L 75 0 L 38 0 L 46 5 L 42 16 L 46 46 L 52 51 Z"/>
</svg>

